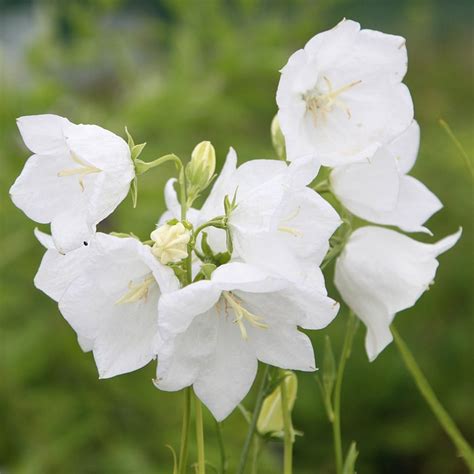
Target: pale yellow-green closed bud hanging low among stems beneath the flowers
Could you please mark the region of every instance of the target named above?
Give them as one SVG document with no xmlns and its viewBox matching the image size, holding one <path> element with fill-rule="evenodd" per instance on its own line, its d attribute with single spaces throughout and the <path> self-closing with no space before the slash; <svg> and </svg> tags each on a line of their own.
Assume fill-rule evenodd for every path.
<svg viewBox="0 0 474 474">
<path fill-rule="evenodd" d="M 298 391 L 298 379 L 293 372 L 286 371 L 285 377 L 280 383 L 284 383 L 286 386 L 288 407 L 291 412 Z M 261 435 L 272 434 L 273 436 L 278 436 L 279 433 L 284 431 L 280 384 L 263 401 L 257 420 L 257 431 Z"/>
</svg>

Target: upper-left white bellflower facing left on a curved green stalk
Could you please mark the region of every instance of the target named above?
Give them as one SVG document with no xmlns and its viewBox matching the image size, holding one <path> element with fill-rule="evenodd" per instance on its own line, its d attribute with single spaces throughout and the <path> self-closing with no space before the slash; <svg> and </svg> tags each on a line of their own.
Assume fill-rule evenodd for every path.
<svg viewBox="0 0 474 474">
<path fill-rule="evenodd" d="M 112 132 L 57 115 L 17 123 L 34 155 L 10 189 L 12 200 L 34 221 L 51 223 L 61 252 L 77 248 L 126 197 L 134 177 L 129 147 Z"/>
</svg>

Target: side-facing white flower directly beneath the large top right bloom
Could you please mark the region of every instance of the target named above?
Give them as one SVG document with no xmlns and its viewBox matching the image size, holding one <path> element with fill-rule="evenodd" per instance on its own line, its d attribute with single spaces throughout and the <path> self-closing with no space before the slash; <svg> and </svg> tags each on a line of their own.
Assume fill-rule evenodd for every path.
<svg viewBox="0 0 474 474">
<path fill-rule="evenodd" d="M 442 204 L 423 183 L 406 175 L 419 143 L 420 128 L 413 121 L 367 161 L 336 167 L 330 174 L 333 193 L 350 212 L 369 222 L 430 233 L 423 224 Z"/>
</svg>

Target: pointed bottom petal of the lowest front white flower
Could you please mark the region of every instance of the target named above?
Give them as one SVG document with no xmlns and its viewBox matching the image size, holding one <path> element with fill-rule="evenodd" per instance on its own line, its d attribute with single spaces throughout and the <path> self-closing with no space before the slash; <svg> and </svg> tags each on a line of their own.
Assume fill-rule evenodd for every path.
<svg viewBox="0 0 474 474">
<path fill-rule="evenodd" d="M 217 325 L 213 357 L 202 367 L 194 391 L 221 421 L 250 390 L 257 374 L 257 358 L 230 320 L 219 318 Z"/>
</svg>

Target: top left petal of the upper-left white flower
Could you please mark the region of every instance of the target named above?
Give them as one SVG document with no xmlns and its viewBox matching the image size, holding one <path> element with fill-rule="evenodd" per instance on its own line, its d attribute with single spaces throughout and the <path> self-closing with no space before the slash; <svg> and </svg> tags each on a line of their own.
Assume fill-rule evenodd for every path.
<svg viewBox="0 0 474 474">
<path fill-rule="evenodd" d="M 58 115 L 27 115 L 16 121 L 25 145 L 37 154 L 67 152 L 64 130 L 73 124 Z"/>
</svg>

